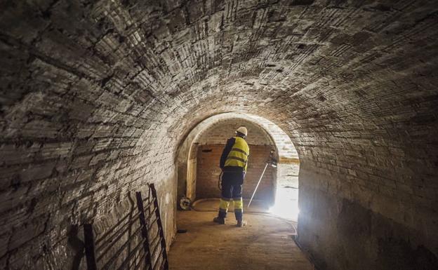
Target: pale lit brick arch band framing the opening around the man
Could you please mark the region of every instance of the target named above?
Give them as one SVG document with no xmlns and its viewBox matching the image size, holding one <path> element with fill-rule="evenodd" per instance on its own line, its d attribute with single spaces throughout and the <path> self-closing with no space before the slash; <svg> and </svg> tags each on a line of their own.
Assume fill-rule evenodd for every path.
<svg viewBox="0 0 438 270">
<path fill-rule="evenodd" d="M 275 194 L 272 203 L 274 203 L 279 194 L 284 194 L 281 190 L 290 189 L 289 191 L 291 192 L 288 192 L 288 196 L 291 196 L 289 203 L 293 203 L 292 208 L 298 208 L 299 159 L 291 139 L 272 121 L 241 112 L 227 112 L 208 117 L 195 126 L 185 137 L 184 142 L 180 144 L 177 157 L 178 199 L 182 196 L 187 196 L 192 201 L 197 198 L 198 142 L 203 140 L 204 135 L 208 134 L 209 130 L 215 128 L 218 124 L 232 120 L 251 123 L 260 130 L 263 130 L 262 132 L 266 136 L 265 140 L 269 141 L 270 145 L 277 152 L 278 160 L 278 167 L 274 170 L 273 176 Z M 213 173 L 211 184 L 216 180 L 215 176 Z M 251 190 L 251 188 L 248 190 Z"/>
</svg>

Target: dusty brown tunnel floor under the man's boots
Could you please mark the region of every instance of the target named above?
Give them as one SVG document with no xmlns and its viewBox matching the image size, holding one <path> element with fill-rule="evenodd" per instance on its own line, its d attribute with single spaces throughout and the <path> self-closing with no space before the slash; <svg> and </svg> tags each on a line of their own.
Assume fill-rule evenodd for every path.
<svg viewBox="0 0 438 270">
<path fill-rule="evenodd" d="M 218 202 L 203 201 L 197 210 L 213 210 Z M 247 202 L 245 202 L 247 205 Z M 260 205 L 260 204 L 259 204 Z M 252 211 L 263 209 L 251 205 Z M 212 222 L 215 212 L 178 211 L 177 234 L 169 252 L 171 270 L 311 270 L 312 264 L 293 242 L 291 222 L 266 214 L 244 214 L 246 227 L 235 227 L 234 213 L 227 224 Z"/>
</svg>

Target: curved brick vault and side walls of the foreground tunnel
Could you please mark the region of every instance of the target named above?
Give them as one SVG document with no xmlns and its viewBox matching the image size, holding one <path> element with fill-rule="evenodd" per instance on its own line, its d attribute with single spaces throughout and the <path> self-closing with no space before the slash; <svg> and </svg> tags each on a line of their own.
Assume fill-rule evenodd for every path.
<svg viewBox="0 0 438 270">
<path fill-rule="evenodd" d="M 171 238 L 183 134 L 239 111 L 296 145 L 298 241 L 319 264 L 435 266 L 436 13 L 434 1 L 5 2 L 0 265 L 71 264 L 69 224 L 149 181 Z"/>
</svg>

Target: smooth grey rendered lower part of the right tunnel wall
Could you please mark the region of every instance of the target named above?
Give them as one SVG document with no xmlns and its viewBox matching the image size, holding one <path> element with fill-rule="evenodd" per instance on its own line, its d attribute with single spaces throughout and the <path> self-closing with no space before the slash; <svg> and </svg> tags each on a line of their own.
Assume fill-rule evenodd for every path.
<svg viewBox="0 0 438 270">
<path fill-rule="evenodd" d="M 389 200 L 381 203 L 380 207 L 391 208 L 385 205 Z M 435 239 L 425 239 L 420 227 L 411 229 L 354 199 L 303 184 L 299 205 L 298 242 L 307 252 L 312 247 L 310 255 L 318 269 L 437 268 L 437 256 L 425 245 Z"/>
</svg>

